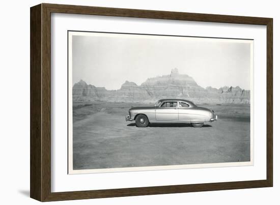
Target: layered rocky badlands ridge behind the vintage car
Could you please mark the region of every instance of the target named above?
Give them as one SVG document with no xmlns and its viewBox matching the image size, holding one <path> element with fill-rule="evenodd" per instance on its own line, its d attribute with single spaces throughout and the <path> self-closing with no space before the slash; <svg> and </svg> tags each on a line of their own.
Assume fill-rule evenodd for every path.
<svg viewBox="0 0 280 205">
<path fill-rule="evenodd" d="M 249 104 L 250 91 L 239 86 L 223 86 L 219 89 L 211 86 L 199 86 L 194 79 L 172 69 L 170 75 L 148 78 L 141 85 L 125 81 L 121 89 L 106 90 L 80 80 L 73 86 L 73 102 L 142 102 L 152 103 L 163 98 L 184 98 L 197 104 Z"/>
</svg>

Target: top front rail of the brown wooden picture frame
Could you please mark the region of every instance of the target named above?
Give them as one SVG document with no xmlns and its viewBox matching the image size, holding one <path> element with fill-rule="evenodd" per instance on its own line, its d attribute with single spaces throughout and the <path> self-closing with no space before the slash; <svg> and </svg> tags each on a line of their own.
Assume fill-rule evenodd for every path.
<svg viewBox="0 0 280 205">
<path fill-rule="evenodd" d="M 242 23 L 242 24 L 259 24 L 266 25 L 269 18 L 249 17 L 249 16 L 230 16 L 216 14 L 200 14 L 170 11 L 152 11 L 138 9 L 120 9 L 106 7 L 89 7 L 59 4 L 43 4 L 49 11 L 53 13 L 68 14 L 88 14 L 102 16 L 120 16 L 135 18 L 154 18 L 169 20 L 188 20 L 188 21 L 204 21 L 204 22 L 221 22 L 221 23 Z"/>
</svg>

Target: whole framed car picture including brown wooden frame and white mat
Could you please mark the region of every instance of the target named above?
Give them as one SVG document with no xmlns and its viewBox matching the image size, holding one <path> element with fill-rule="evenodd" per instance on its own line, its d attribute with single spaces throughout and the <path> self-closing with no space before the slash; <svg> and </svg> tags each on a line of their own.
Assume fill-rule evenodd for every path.
<svg viewBox="0 0 280 205">
<path fill-rule="evenodd" d="M 271 187 L 272 19 L 31 8 L 31 197 Z"/>
</svg>

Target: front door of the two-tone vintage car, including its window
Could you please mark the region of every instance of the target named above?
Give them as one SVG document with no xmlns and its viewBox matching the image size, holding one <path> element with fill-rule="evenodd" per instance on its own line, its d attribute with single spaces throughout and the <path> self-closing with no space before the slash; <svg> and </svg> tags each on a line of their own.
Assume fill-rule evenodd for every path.
<svg viewBox="0 0 280 205">
<path fill-rule="evenodd" d="M 165 101 L 157 107 L 156 121 L 178 122 L 178 102 Z"/>
</svg>

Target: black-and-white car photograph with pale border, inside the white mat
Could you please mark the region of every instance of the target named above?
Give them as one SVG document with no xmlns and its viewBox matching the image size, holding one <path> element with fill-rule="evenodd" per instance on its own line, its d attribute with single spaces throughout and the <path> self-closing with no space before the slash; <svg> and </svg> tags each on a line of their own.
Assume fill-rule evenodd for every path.
<svg viewBox="0 0 280 205">
<path fill-rule="evenodd" d="M 254 40 L 68 31 L 68 173 L 254 164 Z"/>
</svg>

